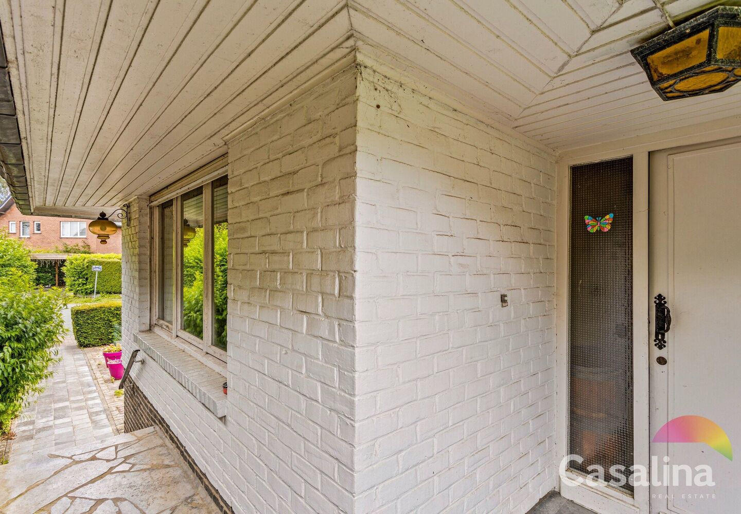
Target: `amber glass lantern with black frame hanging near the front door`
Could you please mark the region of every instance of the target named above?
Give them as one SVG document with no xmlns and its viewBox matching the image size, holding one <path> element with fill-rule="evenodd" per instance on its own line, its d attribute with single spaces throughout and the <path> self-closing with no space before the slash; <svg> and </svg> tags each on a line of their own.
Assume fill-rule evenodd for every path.
<svg viewBox="0 0 741 514">
<path fill-rule="evenodd" d="M 664 100 L 725 91 L 741 80 L 741 7 L 715 7 L 631 53 Z"/>
</svg>

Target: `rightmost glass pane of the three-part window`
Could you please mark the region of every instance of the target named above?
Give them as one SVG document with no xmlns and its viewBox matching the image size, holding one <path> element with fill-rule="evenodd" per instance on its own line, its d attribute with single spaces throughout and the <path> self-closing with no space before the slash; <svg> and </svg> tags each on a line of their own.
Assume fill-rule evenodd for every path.
<svg viewBox="0 0 741 514">
<path fill-rule="evenodd" d="M 213 345 L 227 349 L 227 178 L 213 182 Z"/>
</svg>

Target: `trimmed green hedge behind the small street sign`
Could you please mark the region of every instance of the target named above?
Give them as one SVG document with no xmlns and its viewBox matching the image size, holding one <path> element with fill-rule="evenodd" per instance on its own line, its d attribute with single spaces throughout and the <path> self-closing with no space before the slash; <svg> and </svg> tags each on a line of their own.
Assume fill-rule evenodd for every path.
<svg viewBox="0 0 741 514">
<path fill-rule="evenodd" d="M 76 296 L 93 294 L 94 266 L 102 266 L 98 273 L 98 293 L 121 293 L 121 256 L 118 253 L 80 253 L 67 257 L 64 264 L 64 283 Z"/>
</svg>

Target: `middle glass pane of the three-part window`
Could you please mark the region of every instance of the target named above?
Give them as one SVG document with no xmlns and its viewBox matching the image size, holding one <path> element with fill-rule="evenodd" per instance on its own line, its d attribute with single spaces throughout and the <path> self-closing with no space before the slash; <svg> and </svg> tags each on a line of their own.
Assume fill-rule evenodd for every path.
<svg viewBox="0 0 741 514">
<path fill-rule="evenodd" d="M 181 328 L 203 338 L 203 190 L 182 196 Z"/>
</svg>

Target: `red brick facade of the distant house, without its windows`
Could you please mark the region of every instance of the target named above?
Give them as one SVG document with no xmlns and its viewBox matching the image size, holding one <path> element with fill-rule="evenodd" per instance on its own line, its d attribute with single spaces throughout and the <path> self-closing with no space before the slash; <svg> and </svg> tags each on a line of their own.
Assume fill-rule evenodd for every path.
<svg viewBox="0 0 741 514">
<path fill-rule="evenodd" d="M 62 244 L 79 244 L 86 242 L 90 245 L 90 251 L 93 253 L 121 253 L 121 231 L 110 236 L 107 244 L 100 244 L 98 238 L 87 230 L 87 224 L 91 219 L 80 218 L 57 218 L 56 216 L 26 216 L 18 210 L 16 205 L 10 207 L 6 213 L 0 213 L 0 230 L 10 232 L 10 221 L 16 222 L 16 233 L 10 236 L 20 238 L 21 241 L 34 250 L 48 250 L 54 252 L 57 248 L 62 248 Z M 30 224 L 27 238 L 21 238 L 21 221 L 28 221 Z M 41 233 L 34 233 L 33 222 L 41 222 Z M 62 221 L 84 221 L 87 236 L 85 237 L 62 237 Z"/>
</svg>

